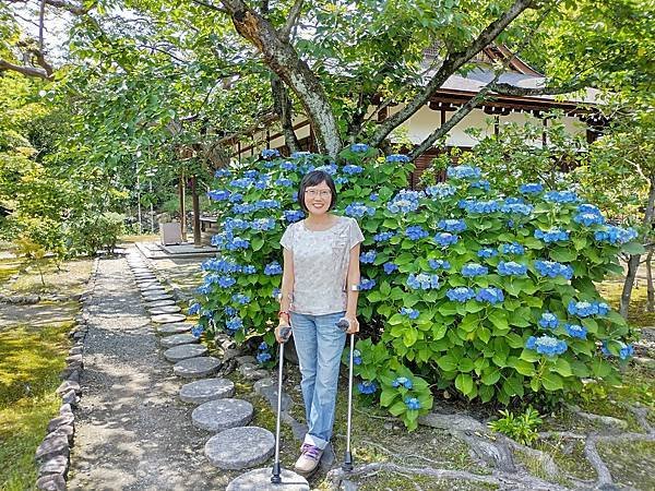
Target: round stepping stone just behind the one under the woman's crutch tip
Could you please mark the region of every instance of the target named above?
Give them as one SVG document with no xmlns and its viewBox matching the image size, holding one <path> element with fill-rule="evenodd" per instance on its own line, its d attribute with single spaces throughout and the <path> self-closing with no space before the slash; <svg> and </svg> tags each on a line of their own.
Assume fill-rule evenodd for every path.
<svg viewBox="0 0 655 491">
<path fill-rule="evenodd" d="M 205 443 L 207 459 L 219 469 L 254 467 L 265 463 L 274 452 L 275 436 L 259 427 L 230 428 Z"/>
</svg>

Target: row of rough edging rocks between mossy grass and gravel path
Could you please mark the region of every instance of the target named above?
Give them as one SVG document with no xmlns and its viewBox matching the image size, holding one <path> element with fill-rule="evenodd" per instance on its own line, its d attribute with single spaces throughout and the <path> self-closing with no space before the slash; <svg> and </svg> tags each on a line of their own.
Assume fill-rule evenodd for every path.
<svg viewBox="0 0 655 491">
<path fill-rule="evenodd" d="M 70 448 L 75 434 L 75 417 L 73 408 L 81 396 L 80 376 L 84 370 L 84 338 L 88 332 L 88 313 L 86 312 L 93 298 L 97 278 L 99 258 L 94 261 L 87 282 L 87 292 L 80 296 L 82 312 L 75 316 L 75 327 L 69 333 L 74 340 L 67 357 L 67 367 L 59 374 L 61 384 L 57 395 L 61 397 L 59 416 L 48 422 L 48 432 L 36 448 L 35 458 L 39 464 L 36 488 L 47 491 L 66 490 L 66 479 L 70 464 Z"/>
</svg>

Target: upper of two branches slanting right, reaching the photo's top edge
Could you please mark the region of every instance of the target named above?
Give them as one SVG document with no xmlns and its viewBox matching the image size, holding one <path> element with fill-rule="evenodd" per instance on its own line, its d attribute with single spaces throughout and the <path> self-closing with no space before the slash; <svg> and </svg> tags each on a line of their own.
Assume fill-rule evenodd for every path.
<svg viewBox="0 0 655 491">
<path fill-rule="evenodd" d="M 424 89 L 417 94 L 414 99 L 407 103 L 403 109 L 385 119 L 384 122 L 378 127 L 369 143 L 373 146 L 380 145 L 389 133 L 416 113 L 416 111 L 428 101 L 430 96 L 443 85 L 449 76 L 455 73 L 464 63 L 469 61 L 486 46 L 490 45 L 493 39 L 508 27 L 508 25 L 532 4 L 533 0 L 516 0 L 500 17 L 485 27 L 465 50 L 450 52 Z"/>
</svg>

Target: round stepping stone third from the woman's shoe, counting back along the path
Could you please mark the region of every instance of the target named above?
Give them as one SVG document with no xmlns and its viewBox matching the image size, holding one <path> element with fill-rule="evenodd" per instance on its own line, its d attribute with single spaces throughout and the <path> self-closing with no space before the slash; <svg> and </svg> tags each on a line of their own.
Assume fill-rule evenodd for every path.
<svg viewBox="0 0 655 491">
<path fill-rule="evenodd" d="M 202 360 L 202 358 L 194 358 Z M 242 427 L 252 419 L 253 408 L 248 400 L 216 399 L 203 403 L 191 412 L 193 426 L 206 431 Z"/>
</svg>

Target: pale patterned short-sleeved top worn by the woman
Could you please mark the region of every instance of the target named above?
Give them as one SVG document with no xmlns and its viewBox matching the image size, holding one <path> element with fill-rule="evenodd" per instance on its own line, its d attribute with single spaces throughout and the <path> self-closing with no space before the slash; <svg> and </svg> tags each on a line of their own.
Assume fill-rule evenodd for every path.
<svg viewBox="0 0 655 491">
<path fill-rule="evenodd" d="M 294 258 L 294 312 L 324 315 L 346 310 L 348 258 L 364 235 L 354 218 L 336 218 L 326 230 L 309 230 L 305 220 L 297 221 L 279 240 Z"/>
</svg>

